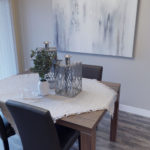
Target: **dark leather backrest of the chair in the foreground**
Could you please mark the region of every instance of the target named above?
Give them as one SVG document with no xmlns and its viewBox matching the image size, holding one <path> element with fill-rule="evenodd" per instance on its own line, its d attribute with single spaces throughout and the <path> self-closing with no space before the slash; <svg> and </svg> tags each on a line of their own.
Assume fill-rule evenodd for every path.
<svg viewBox="0 0 150 150">
<path fill-rule="evenodd" d="M 24 150 L 60 150 L 56 128 L 49 111 L 20 102 L 6 102 Z"/>
</svg>

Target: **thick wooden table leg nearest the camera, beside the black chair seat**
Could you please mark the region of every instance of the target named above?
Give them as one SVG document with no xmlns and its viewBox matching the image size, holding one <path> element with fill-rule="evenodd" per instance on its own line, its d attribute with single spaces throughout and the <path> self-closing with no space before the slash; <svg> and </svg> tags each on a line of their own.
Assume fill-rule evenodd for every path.
<svg viewBox="0 0 150 150">
<path fill-rule="evenodd" d="M 96 149 L 96 129 L 91 132 L 80 132 L 80 150 Z"/>
</svg>

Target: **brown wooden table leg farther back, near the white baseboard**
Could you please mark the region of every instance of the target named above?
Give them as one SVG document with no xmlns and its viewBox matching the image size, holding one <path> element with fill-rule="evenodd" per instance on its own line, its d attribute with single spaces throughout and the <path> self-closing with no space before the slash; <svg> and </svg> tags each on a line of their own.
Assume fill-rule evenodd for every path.
<svg viewBox="0 0 150 150">
<path fill-rule="evenodd" d="M 110 141 L 112 142 L 116 141 L 116 136 L 117 136 L 118 111 L 119 111 L 119 94 L 118 94 L 117 101 L 115 102 L 114 116 L 111 119 Z"/>
</svg>

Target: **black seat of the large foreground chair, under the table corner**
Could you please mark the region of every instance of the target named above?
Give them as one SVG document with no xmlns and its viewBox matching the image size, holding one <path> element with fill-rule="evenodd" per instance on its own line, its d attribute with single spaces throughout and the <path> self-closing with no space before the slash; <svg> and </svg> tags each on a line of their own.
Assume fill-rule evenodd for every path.
<svg viewBox="0 0 150 150">
<path fill-rule="evenodd" d="M 78 131 L 59 125 L 56 125 L 56 130 L 62 150 L 69 150 L 80 135 Z"/>
</svg>

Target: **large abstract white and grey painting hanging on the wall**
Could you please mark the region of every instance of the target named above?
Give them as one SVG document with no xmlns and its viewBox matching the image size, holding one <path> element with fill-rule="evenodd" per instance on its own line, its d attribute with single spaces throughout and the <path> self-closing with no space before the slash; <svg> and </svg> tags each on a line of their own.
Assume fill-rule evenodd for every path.
<svg viewBox="0 0 150 150">
<path fill-rule="evenodd" d="M 132 57 L 138 0 L 52 0 L 59 51 Z"/>
</svg>

